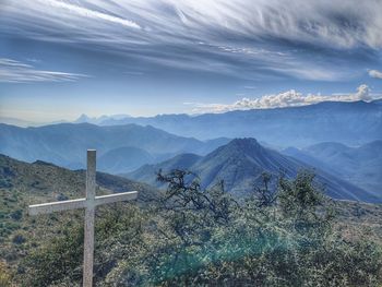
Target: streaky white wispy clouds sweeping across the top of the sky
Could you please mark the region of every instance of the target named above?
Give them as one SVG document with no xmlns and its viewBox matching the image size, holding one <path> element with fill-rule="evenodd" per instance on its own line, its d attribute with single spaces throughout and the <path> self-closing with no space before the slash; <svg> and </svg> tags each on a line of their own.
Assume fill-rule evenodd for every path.
<svg viewBox="0 0 382 287">
<path fill-rule="evenodd" d="M 358 74 L 344 69 L 355 55 L 382 48 L 380 5 L 374 0 L 5 0 L 0 33 L 242 79 L 336 81 Z"/>
</svg>

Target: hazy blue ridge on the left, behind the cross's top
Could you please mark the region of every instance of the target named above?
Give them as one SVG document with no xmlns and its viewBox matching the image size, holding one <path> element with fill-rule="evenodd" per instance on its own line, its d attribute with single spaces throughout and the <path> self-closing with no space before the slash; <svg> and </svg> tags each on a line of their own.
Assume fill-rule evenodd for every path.
<svg viewBox="0 0 382 287">
<path fill-rule="evenodd" d="M 2 154 L 28 163 L 39 159 L 79 169 L 83 168 L 85 163 L 83 151 L 96 148 L 98 156 L 104 156 L 103 168 L 108 172 L 127 172 L 124 168 L 132 168 L 129 157 L 126 157 L 131 153 L 127 153 L 122 147 L 141 148 L 141 152 L 145 153 L 145 156 L 141 157 L 143 162 L 139 163 L 141 165 L 152 163 L 152 157 L 164 159 L 184 152 L 205 154 L 216 148 L 222 141 L 224 142 L 224 139 L 202 142 L 177 136 L 150 125 L 136 124 L 98 127 L 89 123 L 60 123 L 39 128 L 0 124 Z M 114 158 L 120 160 L 117 166 L 110 164 Z M 144 162 L 145 159 L 147 162 Z"/>
</svg>

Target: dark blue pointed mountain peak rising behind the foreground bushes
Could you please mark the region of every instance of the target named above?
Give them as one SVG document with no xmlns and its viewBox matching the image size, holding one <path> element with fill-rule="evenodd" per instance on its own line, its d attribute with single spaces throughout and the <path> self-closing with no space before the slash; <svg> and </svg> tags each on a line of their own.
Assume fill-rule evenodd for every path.
<svg viewBox="0 0 382 287">
<path fill-rule="evenodd" d="M 313 170 L 311 166 L 263 147 L 254 139 L 237 139 L 204 157 L 179 155 L 160 164 L 143 166 L 127 174 L 127 177 L 158 184 L 155 174 L 160 169 L 164 172 L 188 169 L 200 177 L 203 188 L 211 188 L 218 180 L 224 180 L 226 190 L 238 196 L 248 195 L 254 183 L 261 181 L 264 171 L 275 176 L 284 172 L 287 177 L 295 177 L 299 170 Z M 326 193 L 334 199 L 379 201 L 369 192 L 324 170 L 315 169 L 314 172 L 318 182 L 323 184 Z"/>
</svg>

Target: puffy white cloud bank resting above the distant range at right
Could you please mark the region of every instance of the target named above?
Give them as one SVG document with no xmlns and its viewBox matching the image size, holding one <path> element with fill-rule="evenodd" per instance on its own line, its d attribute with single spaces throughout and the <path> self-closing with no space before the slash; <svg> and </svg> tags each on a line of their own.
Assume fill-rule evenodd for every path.
<svg viewBox="0 0 382 287">
<path fill-rule="evenodd" d="M 308 94 L 290 89 L 280 94 L 264 95 L 260 98 L 242 98 L 234 104 L 198 104 L 187 103 L 194 107 L 193 112 L 226 112 L 231 110 L 248 110 L 248 109 L 270 109 L 299 107 L 318 104 L 321 101 L 355 101 L 355 100 L 371 100 L 370 88 L 362 84 L 357 88 L 356 93 L 321 95 Z M 184 103 L 186 104 L 186 103 Z"/>
</svg>

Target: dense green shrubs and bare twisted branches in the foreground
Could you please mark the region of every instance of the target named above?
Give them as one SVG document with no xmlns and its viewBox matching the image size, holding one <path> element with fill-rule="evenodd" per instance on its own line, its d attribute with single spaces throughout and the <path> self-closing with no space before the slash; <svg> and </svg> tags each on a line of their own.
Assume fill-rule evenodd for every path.
<svg viewBox="0 0 382 287">
<path fill-rule="evenodd" d="M 97 286 L 382 284 L 380 243 L 372 231 L 338 217 L 337 204 L 323 195 L 313 175 L 274 179 L 264 174 L 263 186 L 242 202 L 224 191 L 224 182 L 202 190 L 190 177 L 181 170 L 159 174 L 167 192 L 146 206 L 99 208 Z M 82 220 L 60 228 L 59 237 L 28 251 L 14 280 L 81 283 Z"/>
</svg>

